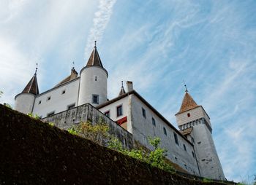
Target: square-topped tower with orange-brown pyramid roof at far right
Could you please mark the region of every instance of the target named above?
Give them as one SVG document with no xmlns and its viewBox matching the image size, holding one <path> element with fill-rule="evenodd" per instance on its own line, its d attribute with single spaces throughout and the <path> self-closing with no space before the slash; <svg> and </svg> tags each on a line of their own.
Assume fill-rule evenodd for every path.
<svg viewBox="0 0 256 185">
<path fill-rule="evenodd" d="M 198 106 L 189 95 L 186 87 L 181 109 L 176 114 L 176 120 L 181 133 L 194 144 L 195 157 L 200 174 L 206 178 L 225 180 L 222 165 L 211 136 L 212 128 L 210 117 Z M 194 155 L 194 154 L 193 154 Z"/>
</svg>

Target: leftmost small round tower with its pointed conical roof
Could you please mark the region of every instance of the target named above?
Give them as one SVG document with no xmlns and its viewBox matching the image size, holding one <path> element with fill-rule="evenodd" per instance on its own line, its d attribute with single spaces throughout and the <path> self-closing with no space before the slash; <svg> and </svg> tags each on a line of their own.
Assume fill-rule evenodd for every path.
<svg viewBox="0 0 256 185">
<path fill-rule="evenodd" d="M 32 113 L 34 100 L 39 94 L 37 84 L 37 68 L 24 90 L 15 96 L 15 110 L 24 114 Z"/>
</svg>

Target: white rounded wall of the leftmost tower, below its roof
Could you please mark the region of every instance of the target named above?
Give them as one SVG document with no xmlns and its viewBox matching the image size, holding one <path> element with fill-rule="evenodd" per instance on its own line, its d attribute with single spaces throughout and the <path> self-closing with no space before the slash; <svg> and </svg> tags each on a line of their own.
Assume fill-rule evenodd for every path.
<svg viewBox="0 0 256 185">
<path fill-rule="evenodd" d="M 15 110 L 20 111 L 23 114 L 32 112 L 34 106 L 34 94 L 31 93 L 20 93 L 15 97 Z"/>
</svg>

